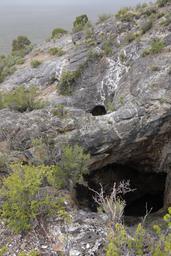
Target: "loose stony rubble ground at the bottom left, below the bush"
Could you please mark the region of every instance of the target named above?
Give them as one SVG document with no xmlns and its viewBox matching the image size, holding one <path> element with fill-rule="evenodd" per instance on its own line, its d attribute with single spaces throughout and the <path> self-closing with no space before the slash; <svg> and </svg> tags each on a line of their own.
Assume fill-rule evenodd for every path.
<svg viewBox="0 0 171 256">
<path fill-rule="evenodd" d="M 14 235 L 0 223 L 3 243 L 9 243 L 6 255 L 18 255 L 19 251 L 39 250 L 41 255 L 105 255 L 105 215 L 78 210 L 70 212 L 72 224 L 64 224 L 60 218 L 49 219 L 45 226 L 38 226 L 24 238 Z M 14 254 L 14 252 L 16 254 Z"/>
</svg>

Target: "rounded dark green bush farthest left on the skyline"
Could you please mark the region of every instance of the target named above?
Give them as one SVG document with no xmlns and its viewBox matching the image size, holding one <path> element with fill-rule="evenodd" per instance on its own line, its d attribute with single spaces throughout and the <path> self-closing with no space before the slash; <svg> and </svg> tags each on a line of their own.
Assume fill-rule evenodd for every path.
<svg viewBox="0 0 171 256">
<path fill-rule="evenodd" d="M 12 42 L 12 51 L 20 51 L 22 49 L 26 49 L 28 46 L 31 45 L 30 40 L 26 36 L 18 36 Z"/>
</svg>

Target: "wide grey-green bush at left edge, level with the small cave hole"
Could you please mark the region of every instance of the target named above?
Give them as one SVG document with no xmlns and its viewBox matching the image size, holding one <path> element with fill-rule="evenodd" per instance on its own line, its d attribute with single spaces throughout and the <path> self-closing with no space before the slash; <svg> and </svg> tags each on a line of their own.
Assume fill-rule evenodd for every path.
<svg viewBox="0 0 171 256">
<path fill-rule="evenodd" d="M 1 94 L 0 107 L 8 107 L 11 110 L 19 112 L 32 111 L 43 107 L 43 103 L 36 100 L 36 87 L 32 86 L 26 89 L 24 86 L 19 86 L 15 90 L 6 94 Z"/>
</svg>

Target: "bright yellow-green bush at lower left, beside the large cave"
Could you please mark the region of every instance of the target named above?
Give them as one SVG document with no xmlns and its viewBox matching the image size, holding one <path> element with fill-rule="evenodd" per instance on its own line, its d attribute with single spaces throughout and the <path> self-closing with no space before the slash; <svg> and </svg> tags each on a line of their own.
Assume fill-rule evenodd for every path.
<svg viewBox="0 0 171 256">
<path fill-rule="evenodd" d="M 13 172 L 5 178 L 0 190 L 0 196 L 4 200 L 1 217 L 18 233 L 29 230 L 36 218 L 50 214 L 53 210 L 61 210 L 62 202 L 54 197 L 52 199 L 47 192 L 41 193 L 45 180 L 54 181 L 58 172 L 56 167 L 21 164 L 11 167 Z"/>
</svg>

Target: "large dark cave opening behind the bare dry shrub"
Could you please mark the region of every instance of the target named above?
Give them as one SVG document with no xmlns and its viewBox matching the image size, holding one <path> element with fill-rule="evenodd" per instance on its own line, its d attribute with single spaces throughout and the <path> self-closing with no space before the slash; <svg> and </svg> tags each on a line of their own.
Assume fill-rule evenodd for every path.
<svg viewBox="0 0 171 256">
<path fill-rule="evenodd" d="M 166 174 L 139 172 L 129 165 L 111 164 L 86 176 L 88 186 L 100 191 L 101 184 L 105 195 L 112 191 L 114 182 L 129 180 L 134 191 L 126 194 L 125 216 L 144 216 L 147 211 L 157 212 L 163 207 Z M 76 186 L 77 200 L 82 207 L 97 211 L 94 201 L 95 193 L 82 185 Z"/>
</svg>

